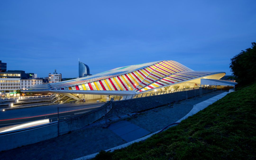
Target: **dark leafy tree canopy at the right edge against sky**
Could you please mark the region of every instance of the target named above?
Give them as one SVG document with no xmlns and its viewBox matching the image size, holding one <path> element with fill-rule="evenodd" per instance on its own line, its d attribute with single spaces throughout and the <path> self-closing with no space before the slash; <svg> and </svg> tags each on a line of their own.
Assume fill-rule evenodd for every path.
<svg viewBox="0 0 256 160">
<path fill-rule="evenodd" d="M 249 84 L 256 80 L 256 43 L 252 42 L 252 48 L 242 50 L 231 58 L 230 67 L 233 75 L 240 84 Z"/>
</svg>

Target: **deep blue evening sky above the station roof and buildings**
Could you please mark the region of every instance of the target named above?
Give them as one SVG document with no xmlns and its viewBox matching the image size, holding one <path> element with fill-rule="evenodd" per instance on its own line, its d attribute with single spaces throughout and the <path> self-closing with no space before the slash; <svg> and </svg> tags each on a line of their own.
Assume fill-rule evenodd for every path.
<svg viewBox="0 0 256 160">
<path fill-rule="evenodd" d="M 175 60 L 224 71 L 256 41 L 256 1 L 1 1 L 0 60 L 7 70 L 78 76 Z"/>
</svg>

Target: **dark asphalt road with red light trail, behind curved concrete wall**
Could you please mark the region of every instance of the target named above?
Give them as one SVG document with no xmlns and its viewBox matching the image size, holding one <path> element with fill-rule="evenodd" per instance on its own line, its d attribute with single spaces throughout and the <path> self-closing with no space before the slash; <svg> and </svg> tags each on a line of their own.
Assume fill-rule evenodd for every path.
<svg viewBox="0 0 256 160">
<path fill-rule="evenodd" d="M 88 105 L 89 104 L 89 105 Z M 15 125 L 19 123 L 49 119 L 50 122 L 57 121 L 58 119 L 58 107 L 59 107 L 59 118 L 66 119 L 75 116 L 75 113 L 84 113 L 94 109 L 97 109 L 103 103 L 86 103 L 83 104 L 59 104 L 50 106 L 40 106 L 24 109 L 6 110 L 0 111 L 0 127 Z M 70 107 L 72 106 L 72 107 Z M 62 108 L 64 107 L 64 108 Z"/>
</svg>

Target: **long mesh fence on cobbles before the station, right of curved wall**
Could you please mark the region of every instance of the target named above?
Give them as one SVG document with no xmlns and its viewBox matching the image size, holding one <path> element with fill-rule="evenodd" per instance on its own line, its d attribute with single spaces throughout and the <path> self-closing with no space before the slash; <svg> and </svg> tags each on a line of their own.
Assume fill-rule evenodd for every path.
<svg viewBox="0 0 256 160">
<path fill-rule="evenodd" d="M 148 92 L 143 94 L 115 96 L 113 98 L 113 108 L 107 114 L 108 120 L 125 117 L 159 106 L 172 106 L 171 103 L 188 100 L 193 97 L 200 97 L 202 94 L 221 91 L 224 88 L 185 88 L 173 91 Z"/>
</svg>

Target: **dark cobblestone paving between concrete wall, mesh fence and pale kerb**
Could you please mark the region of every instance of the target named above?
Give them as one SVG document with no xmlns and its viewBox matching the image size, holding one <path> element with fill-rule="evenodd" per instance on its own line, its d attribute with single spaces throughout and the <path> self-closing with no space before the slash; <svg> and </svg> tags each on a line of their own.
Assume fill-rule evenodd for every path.
<svg viewBox="0 0 256 160">
<path fill-rule="evenodd" d="M 176 122 L 185 116 L 194 104 L 222 93 L 216 91 L 173 104 L 172 107 L 162 107 L 139 114 L 137 118 L 126 118 L 150 132 L 156 132 L 165 126 Z M 29 137 L 28 137 L 29 138 Z M 0 159 L 75 159 L 97 153 L 126 143 L 121 137 L 102 126 L 74 131 L 50 140 L 0 152 Z"/>
</svg>

